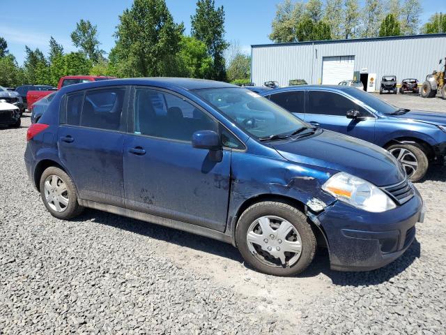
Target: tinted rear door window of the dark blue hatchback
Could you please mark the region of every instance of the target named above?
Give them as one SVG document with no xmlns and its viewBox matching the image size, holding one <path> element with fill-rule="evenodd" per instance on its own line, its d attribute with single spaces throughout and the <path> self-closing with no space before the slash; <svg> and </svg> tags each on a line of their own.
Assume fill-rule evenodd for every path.
<svg viewBox="0 0 446 335">
<path fill-rule="evenodd" d="M 118 131 L 125 89 L 86 91 L 81 126 Z"/>
</svg>

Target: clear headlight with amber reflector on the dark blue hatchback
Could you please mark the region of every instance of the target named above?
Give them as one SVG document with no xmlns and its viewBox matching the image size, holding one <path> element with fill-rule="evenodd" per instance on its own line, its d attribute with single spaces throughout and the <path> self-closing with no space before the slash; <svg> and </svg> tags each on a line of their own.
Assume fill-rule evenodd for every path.
<svg viewBox="0 0 446 335">
<path fill-rule="evenodd" d="M 380 188 L 346 172 L 334 174 L 323 184 L 322 189 L 334 198 L 364 211 L 380 213 L 397 207 Z"/>
</svg>

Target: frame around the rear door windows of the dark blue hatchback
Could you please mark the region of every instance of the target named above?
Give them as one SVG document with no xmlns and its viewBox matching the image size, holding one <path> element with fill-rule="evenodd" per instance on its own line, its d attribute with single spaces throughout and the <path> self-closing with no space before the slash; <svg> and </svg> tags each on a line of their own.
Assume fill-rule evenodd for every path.
<svg viewBox="0 0 446 335">
<path fill-rule="evenodd" d="M 129 103 L 130 103 L 130 85 L 113 85 L 113 86 L 103 86 L 103 87 L 93 87 L 91 89 L 83 89 L 79 91 L 72 91 L 63 96 L 61 101 L 63 101 L 63 112 L 65 114 L 65 124 L 61 124 L 61 114 L 59 114 L 59 126 L 68 126 L 68 127 L 74 127 L 74 128 L 85 128 L 85 129 L 94 129 L 97 131 L 111 131 L 114 133 L 126 133 L 126 129 L 128 128 L 128 111 L 129 111 Z M 88 127 L 88 126 L 82 126 L 82 114 L 84 114 L 84 102 L 85 102 L 85 96 L 87 91 L 101 91 L 104 89 L 125 89 L 124 92 L 124 101 L 123 101 L 123 110 L 121 112 L 121 121 L 120 121 L 120 129 L 117 131 L 114 131 L 112 129 L 104 129 L 104 128 L 95 128 L 95 127 Z M 81 106 L 81 115 L 79 119 L 79 125 L 75 124 L 67 124 L 67 103 L 68 103 L 68 96 L 72 96 L 75 94 L 82 93 L 82 106 Z"/>
</svg>

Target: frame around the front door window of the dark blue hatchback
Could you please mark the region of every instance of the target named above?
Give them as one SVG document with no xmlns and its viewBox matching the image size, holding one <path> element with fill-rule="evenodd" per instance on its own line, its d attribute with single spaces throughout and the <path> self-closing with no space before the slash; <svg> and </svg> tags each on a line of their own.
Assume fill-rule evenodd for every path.
<svg viewBox="0 0 446 335">
<path fill-rule="evenodd" d="M 185 101 L 186 103 L 190 103 L 192 106 L 194 106 L 195 108 L 197 108 L 198 110 L 200 110 L 201 112 L 203 112 L 208 117 L 213 119 L 213 121 L 216 122 L 216 124 L 217 124 L 217 133 L 220 136 L 222 135 L 222 128 L 224 128 L 224 129 L 226 129 L 226 131 L 231 133 L 236 138 L 236 140 L 238 140 L 238 142 L 240 142 L 243 145 L 243 149 L 231 148 L 231 147 L 226 147 L 226 146 L 223 146 L 223 149 L 225 149 L 225 150 L 232 150 L 232 151 L 246 151 L 247 150 L 245 142 L 240 140 L 240 138 L 238 138 L 238 136 L 236 134 L 234 134 L 231 130 L 229 130 L 226 126 L 224 126 L 224 124 L 222 124 L 220 121 L 218 121 L 213 116 L 213 114 L 210 114 L 210 112 L 208 112 L 203 107 L 201 107 L 200 105 L 198 105 L 194 101 L 190 100 L 189 98 L 187 98 L 187 97 L 185 97 L 185 96 L 183 96 L 181 94 L 178 94 L 178 92 L 171 91 L 169 89 L 164 89 L 164 88 L 161 88 L 161 87 L 144 86 L 144 85 L 134 85 L 134 86 L 132 86 L 132 91 L 130 93 L 130 99 L 129 99 L 129 103 L 128 103 L 127 133 L 129 135 L 148 137 L 148 138 L 153 138 L 155 140 L 164 140 L 164 141 L 168 141 L 168 142 L 180 142 L 180 143 L 185 143 L 185 144 L 192 144 L 192 140 L 190 140 L 190 141 L 176 140 L 174 138 L 158 137 L 158 136 L 144 135 L 144 134 L 135 134 L 134 133 L 134 99 L 136 98 L 136 91 L 137 91 L 137 89 L 151 89 L 152 91 L 160 91 L 160 92 L 163 92 L 163 93 L 172 94 L 173 96 L 176 96 L 177 98 L 180 98 L 181 100 Z"/>
</svg>

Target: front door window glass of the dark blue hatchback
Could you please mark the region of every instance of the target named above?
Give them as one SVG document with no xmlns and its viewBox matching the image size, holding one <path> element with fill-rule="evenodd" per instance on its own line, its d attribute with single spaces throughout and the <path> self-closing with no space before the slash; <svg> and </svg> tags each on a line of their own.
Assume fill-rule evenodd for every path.
<svg viewBox="0 0 446 335">
<path fill-rule="evenodd" d="M 134 133 L 191 141 L 195 131 L 217 131 L 217 122 L 191 103 L 161 91 L 137 89 Z"/>
</svg>

